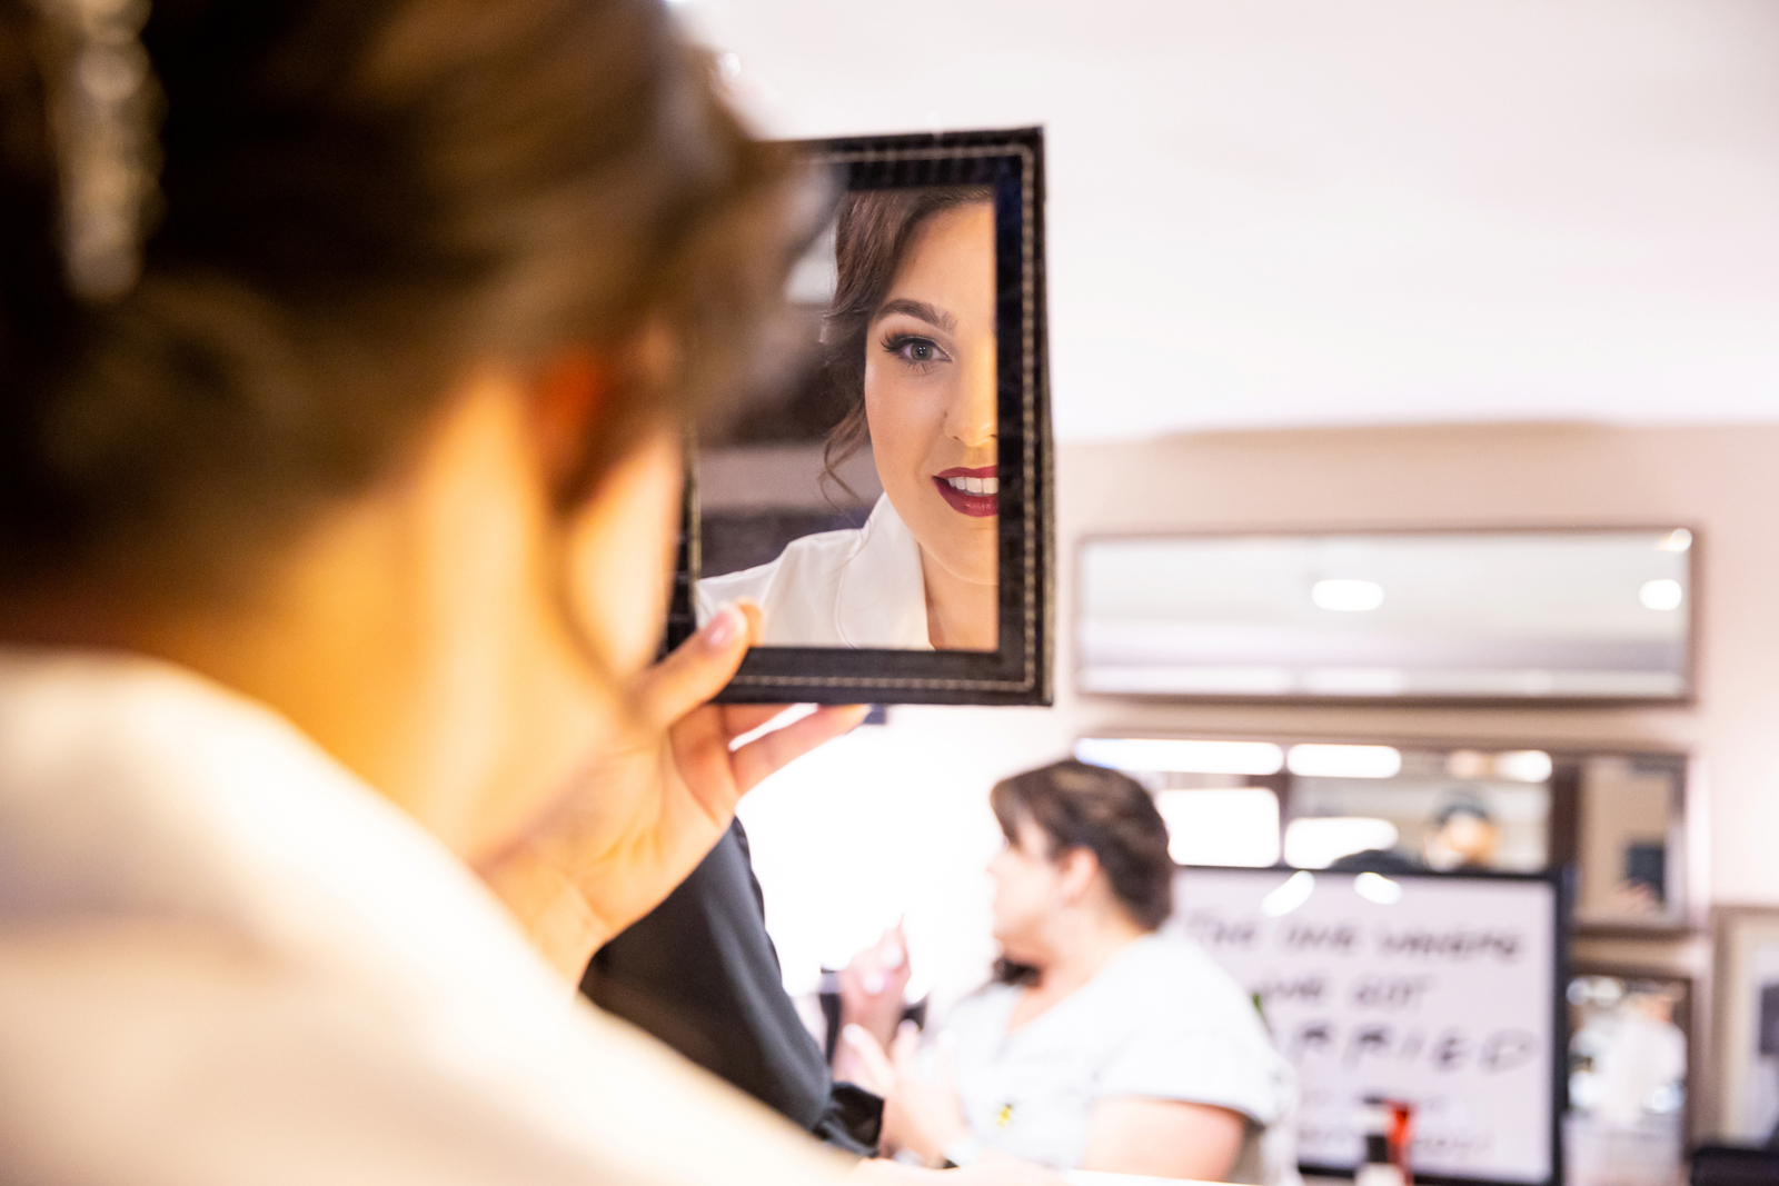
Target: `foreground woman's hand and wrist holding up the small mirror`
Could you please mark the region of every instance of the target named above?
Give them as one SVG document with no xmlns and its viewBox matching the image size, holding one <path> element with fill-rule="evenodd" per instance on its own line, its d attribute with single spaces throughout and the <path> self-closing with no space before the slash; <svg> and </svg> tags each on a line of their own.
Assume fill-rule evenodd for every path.
<svg viewBox="0 0 1779 1186">
<path fill-rule="evenodd" d="M 726 606 L 628 693 L 628 717 L 557 807 L 482 868 L 544 957 L 578 982 L 592 953 L 637 921 L 722 839 L 742 795 L 774 770 L 847 733 L 865 708 L 818 708 L 733 741 L 783 704 L 710 704 L 735 676 L 760 610 Z"/>
</svg>

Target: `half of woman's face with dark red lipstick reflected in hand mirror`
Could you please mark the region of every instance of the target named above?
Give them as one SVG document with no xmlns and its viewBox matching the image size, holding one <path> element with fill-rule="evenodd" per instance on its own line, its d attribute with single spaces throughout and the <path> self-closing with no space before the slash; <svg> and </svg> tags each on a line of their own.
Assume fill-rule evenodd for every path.
<svg viewBox="0 0 1779 1186">
<path fill-rule="evenodd" d="M 996 583 L 994 210 L 968 203 L 914 231 L 865 340 L 877 475 L 923 560 Z"/>
</svg>

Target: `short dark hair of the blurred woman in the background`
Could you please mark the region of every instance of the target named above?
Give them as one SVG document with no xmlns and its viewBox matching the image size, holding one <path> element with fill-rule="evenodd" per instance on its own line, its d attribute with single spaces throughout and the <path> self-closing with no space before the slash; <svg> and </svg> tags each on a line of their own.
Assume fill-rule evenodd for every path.
<svg viewBox="0 0 1779 1186">
<path fill-rule="evenodd" d="M 1059 761 L 994 784 L 989 805 L 1009 841 L 1030 820 L 1060 857 L 1087 848 L 1112 896 L 1137 926 L 1155 930 L 1174 910 L 1174 861 L 1167 823 L 1142 786 L 1115 770 Z"/>
</svg>

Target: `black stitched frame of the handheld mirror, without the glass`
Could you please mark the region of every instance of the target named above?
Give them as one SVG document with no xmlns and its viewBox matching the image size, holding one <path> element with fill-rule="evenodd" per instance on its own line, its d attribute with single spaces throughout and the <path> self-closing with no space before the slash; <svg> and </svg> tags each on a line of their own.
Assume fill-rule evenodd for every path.
<svg viewBox="0 0 1779 1186">
<path fill-rule="evenodd" d="M 1044 133 L 943 132 L 801 140 L 845 190 L 932 185 L 994 188 L 1000 446 L 1000 647 L 875 651 L 754 647 L 717 699 L 813 704 L 1050 704 L 1055 654 L 1055 514 L 1044 317 Z M 687 466 L 667 647 L 697 629 L 696 469 Z M 1016 507 L 1018 514 L 1005 514 Z"/>
</svg>

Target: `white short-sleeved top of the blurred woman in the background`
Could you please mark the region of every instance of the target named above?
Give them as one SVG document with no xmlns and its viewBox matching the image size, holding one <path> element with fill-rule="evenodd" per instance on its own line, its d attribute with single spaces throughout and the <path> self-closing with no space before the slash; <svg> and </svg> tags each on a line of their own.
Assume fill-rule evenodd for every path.
<svg viewBox="0 0 1779 1186">
<path fill-rule="evenodd" d="M 1295 1078 L 1242 989 L 1195 942 L 1144 935 L 1099 974 L 1007 1031 L 1025 989 L 994 983 L 959 1001 L 964 1118 L 989 1149 L 1073 1170 L 1101 1099 L 1215 1104 L 1249 1118 L 1233 1182 L 1297 1181 Z"/>
</svg>

